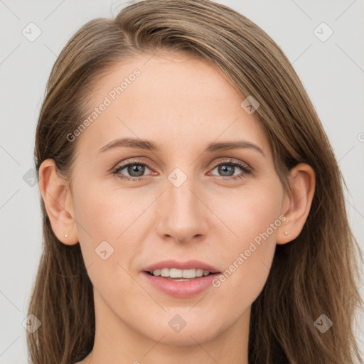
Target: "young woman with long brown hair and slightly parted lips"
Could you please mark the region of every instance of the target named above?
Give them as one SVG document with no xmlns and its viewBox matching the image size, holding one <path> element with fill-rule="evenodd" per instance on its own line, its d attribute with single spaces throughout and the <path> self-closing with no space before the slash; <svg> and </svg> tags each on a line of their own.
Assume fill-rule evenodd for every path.
<svg viewBox="0 0 364 364">
<path fill-rule="evenodd" d="M 60 53 L 36 132 L 32 363 L 353 363 L 343 178 L 282 50 L 208 0 Z"/>
</svg>

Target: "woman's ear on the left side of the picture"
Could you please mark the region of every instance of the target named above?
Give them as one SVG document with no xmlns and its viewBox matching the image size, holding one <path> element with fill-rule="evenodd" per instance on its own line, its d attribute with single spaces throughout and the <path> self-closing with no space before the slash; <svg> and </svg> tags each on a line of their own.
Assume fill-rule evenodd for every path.
<svg viewBox="0 0 364 364">
<path fill-rule="evenodd" d="M 45 159 L 39 168 L 39 189 L 55 236 L 66 245 L 77 244 L 77 223 L 70 188 L 68 182 L 58 175 L 53 159 Z"/>
</svg>

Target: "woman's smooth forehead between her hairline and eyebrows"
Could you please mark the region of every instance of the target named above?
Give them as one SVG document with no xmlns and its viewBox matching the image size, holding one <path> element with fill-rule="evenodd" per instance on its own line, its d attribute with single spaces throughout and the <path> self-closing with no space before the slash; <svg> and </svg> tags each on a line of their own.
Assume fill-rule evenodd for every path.
<svg viewBox="0 0 364 364">
<path fill-rule="evenodd" d="M 187 144 L 197 150 L 212 141 L 245 139 L 269 154 L 257 119 L 240 105 L 245 96 L 216 65 L 196 56 L 139 55 L 114 65 L 95 90 L 77 146 L 89 153 L 133 137 L 184 153 Z"/>
</svg>

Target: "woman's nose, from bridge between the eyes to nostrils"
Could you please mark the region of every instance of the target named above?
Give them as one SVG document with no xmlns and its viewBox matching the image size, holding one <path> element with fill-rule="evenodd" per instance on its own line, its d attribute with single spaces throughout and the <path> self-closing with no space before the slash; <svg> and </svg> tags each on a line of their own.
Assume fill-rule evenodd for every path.
<svg viewBox="0 0 364 364">
<path fill-rule="evenodd" d="M 178 170 L 168 177 L 166 191 L 159 198 L 156 229 L 159 236 L 179 243 L 203 240 L 208 232 L 211 213 L 204 204 L 206 196 L 201 186 Z"/>
</svg>

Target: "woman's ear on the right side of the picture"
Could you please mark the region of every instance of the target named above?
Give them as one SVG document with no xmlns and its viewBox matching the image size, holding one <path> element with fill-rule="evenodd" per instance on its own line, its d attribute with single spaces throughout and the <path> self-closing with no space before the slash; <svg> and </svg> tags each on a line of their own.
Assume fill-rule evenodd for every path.
<svg viewBox="0 0 364 364">
<path fill-rule="evenodd" d="M 296 239 L 304 228 L 314 198 L 315 183 L 315 172 L 309 164 L 300 163 L 291 169 L 291 193 L 285 193 L 282 204 L 282 215 L 286 220 L 277 229 L 277 244 Z"/>
</svg>

